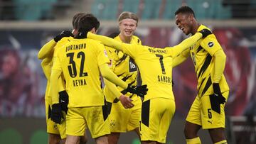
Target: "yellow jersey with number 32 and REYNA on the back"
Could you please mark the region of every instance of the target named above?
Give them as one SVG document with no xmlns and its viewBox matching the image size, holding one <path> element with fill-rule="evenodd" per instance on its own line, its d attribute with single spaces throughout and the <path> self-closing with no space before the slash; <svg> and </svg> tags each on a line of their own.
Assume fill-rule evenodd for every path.
<svg viewBox="0 0 256 144">
<path fill-rule="evenodd" d="M 107 62 L 104 45 L 92 39 L 73 39 L 55 52 L 52 69 L 64 74 L 69 108 L 104 105 L 99 66 Z"/>
</svg>

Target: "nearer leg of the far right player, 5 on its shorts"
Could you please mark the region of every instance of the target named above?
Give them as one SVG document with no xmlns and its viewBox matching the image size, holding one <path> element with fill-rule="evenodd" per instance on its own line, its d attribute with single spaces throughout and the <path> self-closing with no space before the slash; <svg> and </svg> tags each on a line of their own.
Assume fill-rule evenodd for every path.
<svg viewBox="0 0 256 144">
<path fill-rule="evenodd" d="M 229 92 L 224 92 L 223 96 L 228 99 Z M 208 129 L 213 143 L 227 143 L 225 139 L 225 104 L 220 104 L 220 113 L 211 109 L 209 96 L 203 96 L 202 111 L 203 129 Z"/>
</svg>

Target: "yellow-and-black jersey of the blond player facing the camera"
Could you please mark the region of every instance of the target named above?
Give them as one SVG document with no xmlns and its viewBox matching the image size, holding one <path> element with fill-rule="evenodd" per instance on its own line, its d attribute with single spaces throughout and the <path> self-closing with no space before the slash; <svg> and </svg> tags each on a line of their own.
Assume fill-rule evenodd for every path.
<svg viewBox="0 0 256 144">
<path fill-rule="evenodd" d="M 119 38 L 119 35 L 114 38 L 119 42 L 122 40 Z M 132 36 L 131 43 L 142 45 L 141 40 L 137 36 Z M 137 86 L 137 65 L 135 64 L 134 60 L 129 57 L 129 55 L 124 54 L 122 51 L 116 50 L 114 48 L 106 47 L 107 55 L 110 58 L 111 62 L 111 69 L 114 74 L 122 79 L 127 84 L 132 84 L 133 86 Z M 122 92 L 124 89 L 122 87 L 117 86 L 119 92 Z M 111 96 L 112 93 L 110 92 L 109 87 L 104 88 L 105 96 L 107 101 L 114 101 L 114 97 Z M 124 93 L 123 93 L 124 94 Z M 132 96 L 134 94 L 126 93 L 126 96 Z M 138 99 L 138 96 L 132 96 L 132 99 Z"/>
</svg>

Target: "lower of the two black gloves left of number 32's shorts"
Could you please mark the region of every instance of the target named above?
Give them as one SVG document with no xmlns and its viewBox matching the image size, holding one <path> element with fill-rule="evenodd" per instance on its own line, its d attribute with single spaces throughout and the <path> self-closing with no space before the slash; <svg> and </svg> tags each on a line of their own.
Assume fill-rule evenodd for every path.
<svg viewBox="0 0 256 144">
<path fill-rule="evenodd" d="M 63 113 L 61 112 L 60 104 L 53 104 L 50 115 L 51 121 L 60 124 L 61 118 L 63 118 Z"/>
</svg>

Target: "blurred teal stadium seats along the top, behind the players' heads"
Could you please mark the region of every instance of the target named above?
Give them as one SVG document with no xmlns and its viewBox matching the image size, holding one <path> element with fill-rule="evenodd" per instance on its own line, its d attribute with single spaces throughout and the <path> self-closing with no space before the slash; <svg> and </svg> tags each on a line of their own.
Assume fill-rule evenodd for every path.
<svg viewBox="0 0 256 144">
<path fill-rule="evenodd" d="M 137 13 L 142 20 L 171 20 L 182 5 L 190 6 L 198 19 L 224 19 L 232 16 L 230 6 L 223 6 L 223 0 L 95 0 L 92 13 L 102 20 L 114 20 L 122 11 Z"/>
</svg>

